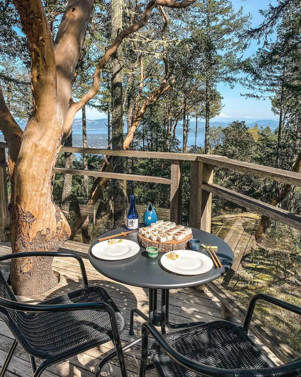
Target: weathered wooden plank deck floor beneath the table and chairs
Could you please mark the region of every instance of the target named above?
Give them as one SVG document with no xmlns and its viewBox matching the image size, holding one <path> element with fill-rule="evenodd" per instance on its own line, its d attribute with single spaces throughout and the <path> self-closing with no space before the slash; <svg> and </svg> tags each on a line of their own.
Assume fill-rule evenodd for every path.
<svg viewBox="0 0 301 377">
<path fill-rule="evenodd" d="M 0 243 L 0 255 L 11 253 L 9 244 Z M 130 310 L 138 307 L 144 313 L 148 309 L 148 291 L 142 288 L 135 288 L 128 285 L 116 283 L 105 276 L 97 273 L 91 266 L 88 259 L 84 259 L 90 284 L 97 284 L 104 287 L 116 305 L 120 308 L 126 320 L 126 329 L 121 338 L 123 343 L 127 343 L 137 337 L 129 336 L 129 314 Z M 61 280 L 57 287 L 40 297 L 20 297 L 20 300 L 36 303 L 40 300 L 49 299 L 72 290 L 82 287 L 81 272 L 77 262 L 72 258 L 55 258 L 53 268 L 61 274 Z M 9 263 L 1 265 L 2 273 L 5 277 L 9 274 Z M 159 294 L 160 299 L 160 294 Z M 159 306 L 160 309 L 160 306 Z M 220 319 L 220 302 L 211 293 L 199 293 L 193 288 L 178 289 L 170 291 L 170 320 L 172 322 L 191 322 L 191 321 L 213 321 Z M 235 319 L 234 319 L 235 320 Z M 140 333 L 142 320 L 135 317 L 135 331 Z M 0 365 L 6 357 L 6 353 L 12 342 L 12 334 L 8 327 L 1 320 L 0 322 Z M 269 351 L 258 339 L 253 337 L 260 348 L 274 360 L 275 363 L 281 362 Z M 151 343 L 151 341 L 150 341 Z M 72 357 L 65 362 L 49 367 L 42 375 L 45 377 L 55 376 L 74 376 L 74 377 L 93 377 L 95 370 L 103 355 L 113 349 L 112 343 L 107 343 L 98 348 L 84 352 Z M 136 376 L 140 360 L 140 348 L 138 346 L 125 352 L 128 375 Z M 37 360 L 37 364 L 39 361 Z M 29 377 L 32 376 L 28 355 L 20 346 L 17 346 L 15 354 L 5 374 L 8 377 Z M 103 369 L 103 376 L 120 376 L 119 364 L 117 359 L 111 360 Z M 157 376 L 155 371 L 147 372 L 147 376 Z"/>
</svg>

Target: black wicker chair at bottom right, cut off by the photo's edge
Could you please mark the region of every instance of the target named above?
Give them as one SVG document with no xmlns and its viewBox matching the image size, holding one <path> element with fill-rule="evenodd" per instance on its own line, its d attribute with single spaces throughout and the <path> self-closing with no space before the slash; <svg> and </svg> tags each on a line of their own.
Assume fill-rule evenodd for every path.
<svg viewBox="0 0 301 377">
<path fill-rule="evenodd" d="M 150 323 L 142 325 L 140 377 L 156 368 L 161 377 L 298 377 L 301 359 L 286 365 L 275 364 L 248 337 L 249 324 L 257 300 L 301 314 L 301 308 L 266 294 L 252 297 L 243 326 L 228 321 L 204 322 L 162 336 Z M 156 342 L 150 349 L 147 365 L 147 340 L 151 333 Z"/>
</svg>

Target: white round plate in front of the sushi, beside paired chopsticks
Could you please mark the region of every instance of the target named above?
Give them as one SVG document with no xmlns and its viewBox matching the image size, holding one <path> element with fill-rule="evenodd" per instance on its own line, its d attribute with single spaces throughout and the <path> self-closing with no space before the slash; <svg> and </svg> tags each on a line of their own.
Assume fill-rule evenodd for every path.
<svg viewBox="0 0 301 377">
<path fill-rule="evenodd" d="M 179 257 L 172 261 L 167 258 L 165 253 L 160 261 L 166 270 L 179 275 L 199 275 L 211 270 L 213 267 L 212 260 L 202 253 L 193 250 L 176 250 Z"/>
</svg>

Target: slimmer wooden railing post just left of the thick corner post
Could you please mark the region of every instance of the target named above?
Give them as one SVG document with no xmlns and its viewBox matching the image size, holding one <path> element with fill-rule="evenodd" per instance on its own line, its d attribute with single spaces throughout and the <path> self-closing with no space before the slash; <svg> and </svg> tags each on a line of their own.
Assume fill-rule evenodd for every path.
<svg viewBox="0 0 301 377">
<path fill-rule="evenodd" d="M 181 224 L 181 192 L 183 161 L 171 160 L 170 221 Z"/>
</svg>

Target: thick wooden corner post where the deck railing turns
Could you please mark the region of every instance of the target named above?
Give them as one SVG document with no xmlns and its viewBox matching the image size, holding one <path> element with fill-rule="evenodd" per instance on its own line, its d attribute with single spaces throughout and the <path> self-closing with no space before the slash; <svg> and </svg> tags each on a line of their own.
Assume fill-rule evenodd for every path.
<svg viewBox="0 0 301 377">
<path fill-rule="evenodd" d="M 202 190 L 202 183 L 213 182 L 213 165 L 190 162 L 189 225 L 210 232 L 212 194 Z"/>
</svg>

